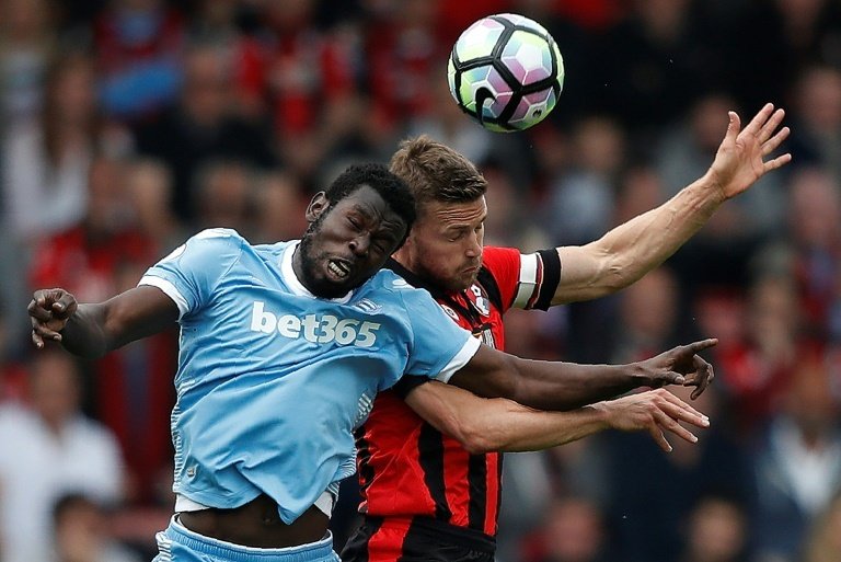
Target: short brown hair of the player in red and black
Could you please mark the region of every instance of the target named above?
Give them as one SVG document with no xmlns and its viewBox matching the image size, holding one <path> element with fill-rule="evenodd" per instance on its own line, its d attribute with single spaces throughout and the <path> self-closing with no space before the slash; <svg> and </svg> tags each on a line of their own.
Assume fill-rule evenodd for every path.
<svg viewBox="0 0 841 562">
<path fill-rule="evenodd" d="M 487 191 L 487 181 L 473 162 L 427 135 L 402 141 L 390 170 L 408 184 L 418 206 L 471 203 Z"/>
</svg>

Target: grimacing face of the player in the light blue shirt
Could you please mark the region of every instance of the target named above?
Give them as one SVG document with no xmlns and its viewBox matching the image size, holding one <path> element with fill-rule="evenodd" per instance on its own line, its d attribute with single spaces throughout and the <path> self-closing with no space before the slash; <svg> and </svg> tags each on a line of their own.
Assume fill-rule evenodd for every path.
<svg viewBox="0 0 841 562">
<path fill-rule="evenodd" d="M 307 220 L 292 263 L 301 283 L 324 298 L 342 297 L 368 280 L 406 232 L 403 219 L 367 185 L 337 203 L 316 195 Z"/>
</svg>

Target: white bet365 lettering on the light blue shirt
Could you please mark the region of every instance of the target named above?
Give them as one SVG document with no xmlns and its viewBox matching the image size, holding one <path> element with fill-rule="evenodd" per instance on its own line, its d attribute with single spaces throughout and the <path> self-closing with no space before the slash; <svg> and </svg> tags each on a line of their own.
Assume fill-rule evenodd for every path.
<svg viewBox="0 0 841 562">
<path fill-rule="evenodd" d="M 333 314 L 306 314 L 302 318 L 284 314 L 278 317 L 265 310 L 265 302 L 255 301 L 251 310 L 251 331 L 264 334 L 277 333 L 290 340 L 303 337 L 312 343 L 331 343 L 370 347 L 377 342 L 379 322 Z"/>
</svg>

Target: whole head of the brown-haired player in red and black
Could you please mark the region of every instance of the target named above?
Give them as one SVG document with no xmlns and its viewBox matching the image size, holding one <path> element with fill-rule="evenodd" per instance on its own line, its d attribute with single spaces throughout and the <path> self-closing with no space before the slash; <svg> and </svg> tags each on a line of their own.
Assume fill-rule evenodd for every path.
<svg viewBox="0 0 841 562">
<path fill-rule="evenodd" d="M 417 205 L 398 261 L 445 290 L 470 287 L 482 265 L 485 179 L 470 160 L 427 136 L 403 141 L 391 171 L 408 184 Z"/>
</svg>

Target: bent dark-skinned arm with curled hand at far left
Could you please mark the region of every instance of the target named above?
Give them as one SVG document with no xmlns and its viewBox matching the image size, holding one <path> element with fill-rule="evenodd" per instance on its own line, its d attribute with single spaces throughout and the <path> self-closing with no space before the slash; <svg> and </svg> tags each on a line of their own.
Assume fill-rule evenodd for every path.
<svg viewBox="0 0 841 562">
<path fill-rule="evenodd" d="M 55 341 L 74 355 L 95 358 L 129 342 L 161 332 L 178 318 L 178 309 L 151 286 L 129 289 L 104 302 L 77 302 L 60 289 L 41 289 L 27 307 L 32 341 Z"/>
</svg>

